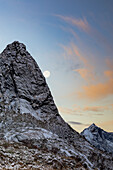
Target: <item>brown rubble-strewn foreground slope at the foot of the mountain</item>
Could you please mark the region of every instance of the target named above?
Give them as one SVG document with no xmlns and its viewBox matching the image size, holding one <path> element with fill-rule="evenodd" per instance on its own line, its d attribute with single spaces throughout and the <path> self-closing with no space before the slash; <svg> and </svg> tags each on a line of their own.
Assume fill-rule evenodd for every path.
<svg viewBox="0 0 113 170">
<path fill-rule="evenodd" d="M 60 141 L 56 140 L 55 142 Z M 50 150 L 45 145 L 37 148 L 30 144 L 27 144 L 26 146 L 18 143 L 9 143 L 3 140 L 0 141 L 0 169 L 2 170 L 71 170 L 76 168 L 85 169 L 86 167 L 87 163 L 85 163 L 85 160 L 82 159 L 82 157 L 79 157 L 76 153 L 71 154 L 71 149 L 70 151 L 67 151 L 67 149 L 63 149 L 62 146 L 61 148 L 53 147 L 52 150 Z"/>
</svg>

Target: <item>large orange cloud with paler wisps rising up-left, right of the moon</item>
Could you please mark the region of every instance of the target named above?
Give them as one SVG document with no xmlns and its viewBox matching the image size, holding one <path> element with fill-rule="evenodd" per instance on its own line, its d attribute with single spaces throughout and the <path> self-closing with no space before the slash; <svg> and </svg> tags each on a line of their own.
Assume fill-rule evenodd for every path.
<svg viewBox="0 0 113 170">
<path fill-rule="evenodd" d="M 108 69 L 103 72 L 104 82 L 101 78 L 97 79 L 94 66 L 88 57 L 83 56 L 81 51 L 74 43 L 69 46 L 62 45 L 65 53 L 65 59 L 71 59 L 73 62 L 79 62 L 83 68 L 73 69 L 86 81 L 88 85 L 82 86 L 82 91 L 78 92 L 80 99 L 99 100 L 109 95 L 113 95 L 113 60 L 107 59 Z"/>
</svg>

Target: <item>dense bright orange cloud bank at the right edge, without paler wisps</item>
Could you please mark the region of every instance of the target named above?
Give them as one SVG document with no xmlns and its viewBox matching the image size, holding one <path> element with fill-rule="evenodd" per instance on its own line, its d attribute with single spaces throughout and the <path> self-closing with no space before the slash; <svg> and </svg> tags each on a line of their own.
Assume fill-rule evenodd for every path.
<svg viewBox="0 0 113 170">
<path fill-rule="evenodd" d="M 78 92 L 80 98 L 98 100 L 113 95 L 113 60 L 107 60 L 108 70 L 104 71 L 105 81 L 103 83 L 83 86 L 83 92 Z M 106 80 L 107 77 L 107 80 Z"/>
</svg>

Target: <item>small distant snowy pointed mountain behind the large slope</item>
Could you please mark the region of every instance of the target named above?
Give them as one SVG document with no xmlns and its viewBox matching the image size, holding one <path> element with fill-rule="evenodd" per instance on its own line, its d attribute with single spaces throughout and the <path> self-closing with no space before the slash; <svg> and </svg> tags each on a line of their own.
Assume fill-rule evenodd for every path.
<svg viewBox="0 0 113 170">
<path fill-rule="evenodd" d="M 113 153 L 113 133 L 108 133 L 92 124 L 81 132 L 92 145 L 96 148 Z"/>
</svg>

